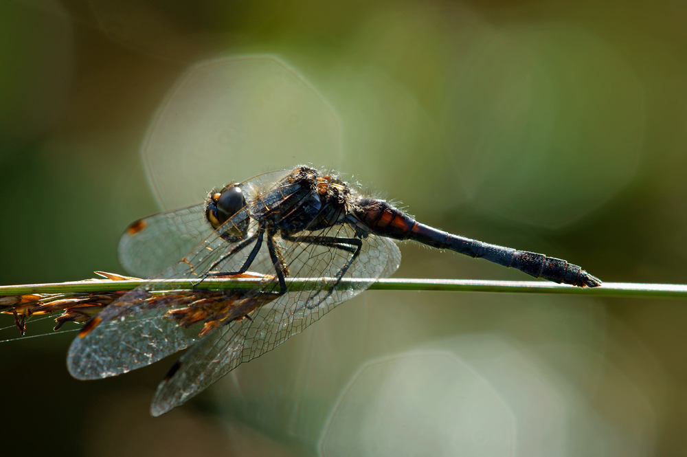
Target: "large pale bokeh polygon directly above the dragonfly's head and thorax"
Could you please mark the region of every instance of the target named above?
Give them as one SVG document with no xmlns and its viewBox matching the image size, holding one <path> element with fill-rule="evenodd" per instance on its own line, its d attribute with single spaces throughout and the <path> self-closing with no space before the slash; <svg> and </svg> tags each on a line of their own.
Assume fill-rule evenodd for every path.
<svg viewBox="0 0 687 457">
<path fill-rule="evenodd" d="M 282 60 L 244 56 L 194 65 L 161 104 L 142 148 L 164 208 L 259 172 L 311 161 L 336 165 L 341 123 Z M 326 162 L 326 163 L 323 163 Z"/>
</svg>

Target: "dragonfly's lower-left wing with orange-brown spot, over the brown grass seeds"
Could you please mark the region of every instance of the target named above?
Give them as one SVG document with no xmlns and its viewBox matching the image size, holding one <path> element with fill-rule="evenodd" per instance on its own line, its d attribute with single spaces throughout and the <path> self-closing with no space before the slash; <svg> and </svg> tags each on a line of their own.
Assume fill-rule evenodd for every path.
<svg viewBox="0 0 687 457">
<path fill-rule="evenodd" d="M 283 173 L 261 175 L 246 181 L 245 185 L 269 186 L 270 175 L 278 179 Z M 267 184 L 263 184 L 265 180 Z M 197 205 L 187 209 L 193 210 L 193 208 L 197 208 Z M 197 211 L 187 214 L 191 213 L 197 214 Z M 250 220 L 247 208 L 244 208 L 216 232 L 210 231 L 210 236 L 207 236 L 181 261 L 166 269 L 156 279 L 190 278 L 192 280 L 202 276 L 214 263 L 232 253 L 232 249 L 236 249 L 243 243 L 242 240 L 230 243 L 221 235 L 232 228 L 236 230 L 236 227 L 245 226 L 247 221 L 249 223 L 243 241 L 250 238 L 256 233 L 258 227 L 256 221 Z M 168 223 L 159 223 L 159 227 L 163 226 L 171 227 Z M 183 231 L 182 229 L 181 232 Z M 153 239 L 153 237 L 150 238 Z M 227 256 L 218 268 L 222 268 L 225 272 L 238 270 L 245 263 L 251 247 L 251 244 L 246 245 L 244 249 Z M 150 249 L 154 248 L 150 247 Z M 251 271 L 264 274 L 268 278 L 265 289 L 273 289 L 274 285 L 270 284 L 269 278 L 273 278 L 274 267 L 267 260 L 268 258 L 267 249 L 263 247 L 251 265 Z M 192 292 L 194 293 L 174 291 L 156 282 L 146 282 L 107 306 L 102 313 L 89 321 L 69 347 L 67 368 L 71 375 L 77 379 L 99 379 L 120 375 L 152 364 L 196 342 L 202 331 L 203 322 L 183 326 L 170 317 L 170 313 L 174 310 L 183 309 L 199 300 L 201 305 L 210 300 L 200 291 Z M 242 299 L 248 298 L 249 293 L 255 292 L 246 291 L 243 296 L 236 296 L 235 293 L 241 292 L 229 291 L 225 296 L 214 297 L 212 300 L 225 303 L 225 308 L 228 310 L 224 311 L 230 316 L 232 306 L 239 306 Z"/>
</svg>

